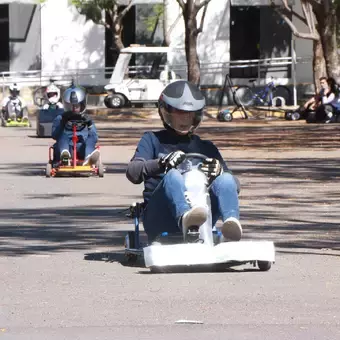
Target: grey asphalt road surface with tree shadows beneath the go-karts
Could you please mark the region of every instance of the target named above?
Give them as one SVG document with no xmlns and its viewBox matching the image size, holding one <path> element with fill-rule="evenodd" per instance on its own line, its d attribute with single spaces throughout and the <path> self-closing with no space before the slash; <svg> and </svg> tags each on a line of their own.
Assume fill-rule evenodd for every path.
<svg viewBox="0 0 340 340">
<path fill-rule="evenodd" d="M 0 339 L 339 339 L 338 126 L 205 123 L 241 180 L 245 238 L 273 240 L 276 263 L 150 274 L 122 254 L 142 190 L 124 172 L 155 126 L 98 123 L 102 179 L 45 178 L 52 140 L 0 129 Z"/>
</svg>

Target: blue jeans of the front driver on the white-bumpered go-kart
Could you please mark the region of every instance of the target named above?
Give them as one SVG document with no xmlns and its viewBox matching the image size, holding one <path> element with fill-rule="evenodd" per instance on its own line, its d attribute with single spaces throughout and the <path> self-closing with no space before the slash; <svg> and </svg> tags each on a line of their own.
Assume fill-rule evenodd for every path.
<svg viewBox="0 0 340 340">
<path fill-rule="evenodd" d="M 144 211 L 143 226 L 149 241 L 162 232 L 176 233 L 181 216 L 190 209 L 187 203 L 184 179 L 181 173 L 170 170 L 153 192 Z M 217 177 L 210 186 L 212 223 L 222 217 L 239 219 L 237 184 L 229 173 Z"/>
</svg>

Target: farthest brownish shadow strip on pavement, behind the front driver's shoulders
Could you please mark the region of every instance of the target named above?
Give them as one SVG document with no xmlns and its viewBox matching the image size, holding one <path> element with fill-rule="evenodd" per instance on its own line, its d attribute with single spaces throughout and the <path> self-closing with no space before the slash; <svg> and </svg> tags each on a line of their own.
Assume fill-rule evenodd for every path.
<svg viewBox="0 0 340 340">
<path fill-rule="evenodd" d="M 127 127 L 98 128 L 100 145 L 137 145 L 145 131 L 163 129 L 161 123 L 146 121 Z M 233 121 L 206 122 L 197 130 L 219 148 L 257 150 L 331 150 L 340 142 L 338 124 L 306 124 L 303 121 Z"/>
</svg>

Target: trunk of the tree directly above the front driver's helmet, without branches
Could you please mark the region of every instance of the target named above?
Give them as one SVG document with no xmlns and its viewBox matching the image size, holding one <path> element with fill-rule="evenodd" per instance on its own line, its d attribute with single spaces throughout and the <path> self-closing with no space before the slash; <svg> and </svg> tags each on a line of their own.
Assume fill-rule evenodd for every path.
<svg viewBox="0 0 340 340">
<path fill-rule="evenodd" d="M 194 6 L 193 1 L 187 1 L 183 17 L 185 20 L 185 54 L 188 64 L 188 81 L 195 85 L 200 84 L 200 65 L 197 53 L 197 20 L 196 10 L 190 6 Z"/>
</svg>

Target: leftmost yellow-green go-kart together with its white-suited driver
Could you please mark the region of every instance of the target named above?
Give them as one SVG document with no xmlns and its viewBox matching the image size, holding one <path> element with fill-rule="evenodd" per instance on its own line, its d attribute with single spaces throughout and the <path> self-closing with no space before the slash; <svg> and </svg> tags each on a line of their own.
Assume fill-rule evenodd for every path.
<svg viewBox="0 0 340 340">
<path fill-rule="evenodd" d="M 19 96 L 20 88 L 14 83 L 9 87 L 10 95 L 4 99 L 1 110 L 1 125 L 4 127 L 30 127 L 25 101 Z"/>
</svg>

